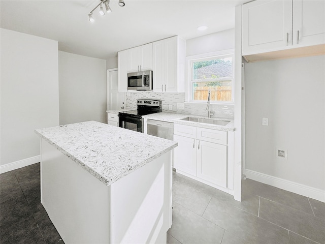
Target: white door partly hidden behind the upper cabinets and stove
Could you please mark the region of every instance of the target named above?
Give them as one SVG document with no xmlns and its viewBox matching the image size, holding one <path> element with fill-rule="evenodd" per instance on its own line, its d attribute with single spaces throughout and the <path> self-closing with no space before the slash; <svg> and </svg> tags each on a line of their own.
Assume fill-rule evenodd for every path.
<svg viewBox="0 0 325 244">
<path fill-rule="evenodd" d="M 125 93 L 118 92 L 117 69 L 107 70 L 107 110 L 124 108 Z"/>
</svg>

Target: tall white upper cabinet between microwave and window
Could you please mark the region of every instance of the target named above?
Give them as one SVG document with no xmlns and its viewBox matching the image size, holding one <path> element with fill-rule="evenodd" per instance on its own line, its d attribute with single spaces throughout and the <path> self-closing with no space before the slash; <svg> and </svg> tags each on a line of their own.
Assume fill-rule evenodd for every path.
<svg viewBox="0 0 325 244">
<path fill-rule="evenodd" d="M 153 43 L 153 92 L 185 90 L 185 41 L 171 37 Z"/>
</svg>

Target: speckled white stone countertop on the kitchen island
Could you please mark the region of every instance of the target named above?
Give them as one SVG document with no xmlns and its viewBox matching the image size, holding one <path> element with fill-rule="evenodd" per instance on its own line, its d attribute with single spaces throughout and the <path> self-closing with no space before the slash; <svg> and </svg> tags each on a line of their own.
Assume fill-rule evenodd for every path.
<svg viewBox="0 0 325 244">
<path fill-rule="evenodd" d="M 35 132 L 107 186 L 177 146 L 175 141 L 96 121 Z"/>
</svg>

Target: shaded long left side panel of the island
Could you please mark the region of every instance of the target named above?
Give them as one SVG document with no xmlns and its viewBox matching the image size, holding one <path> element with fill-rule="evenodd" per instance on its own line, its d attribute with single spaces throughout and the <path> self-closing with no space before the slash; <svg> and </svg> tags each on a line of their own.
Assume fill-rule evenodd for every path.
<svg viewBox="0 0 325 244">
<path fill-rule="evenodd" d="M 110 243 L 110 187 L 41 139 L 41 203 L 64 243 Z"/>
</svg>

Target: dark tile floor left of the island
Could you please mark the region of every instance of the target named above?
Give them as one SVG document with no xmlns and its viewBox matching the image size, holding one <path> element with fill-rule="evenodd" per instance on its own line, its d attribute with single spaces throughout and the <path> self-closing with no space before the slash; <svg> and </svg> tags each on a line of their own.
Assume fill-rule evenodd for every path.
<svg viewBox="0 0 325 244">
<path fill-rule="evenodd" d="M 40 164 L 0 174 L 0 243 L 64 243 L 40 198 Z"/>
</svg>

